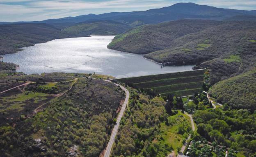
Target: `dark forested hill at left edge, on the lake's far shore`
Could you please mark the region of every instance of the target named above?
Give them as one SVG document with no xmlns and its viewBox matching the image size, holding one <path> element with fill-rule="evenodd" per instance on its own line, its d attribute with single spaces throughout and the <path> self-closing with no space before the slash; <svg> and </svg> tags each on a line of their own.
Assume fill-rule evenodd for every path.
<svg viewBox="0 0 256 157">
<path fill-rule="evenodd" d="M 44 23 L 0 25 L 0 55 L 15 53 L 21 47 L 47 42 L 58 38 L 78 37 L 62 32 L 53 25 Z"/>
</svg>

